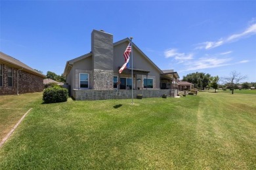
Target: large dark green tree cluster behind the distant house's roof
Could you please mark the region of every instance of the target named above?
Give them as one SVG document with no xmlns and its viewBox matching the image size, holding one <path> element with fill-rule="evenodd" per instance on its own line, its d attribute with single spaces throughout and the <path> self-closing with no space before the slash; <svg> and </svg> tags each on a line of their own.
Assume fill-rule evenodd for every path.
<svg viewBox="0 0 256 170">
<path fill-rule="evenodd" d="M 205 73 L 190 73 L 183 76 L 182 80 L 194 84 L 195 88 L 205 89 L 210 82 L 211 75 Z"/>
</svg>

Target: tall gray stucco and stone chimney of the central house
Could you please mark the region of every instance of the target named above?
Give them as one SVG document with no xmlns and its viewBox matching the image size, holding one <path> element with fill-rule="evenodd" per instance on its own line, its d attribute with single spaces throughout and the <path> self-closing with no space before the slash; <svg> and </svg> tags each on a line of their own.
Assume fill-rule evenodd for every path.
<svg viewBox="0 0 256 170">
<path fill-rule="evenodd" d="M 113 35 L 94 29 L 91 33 L 94 90 L 113 90 L 113 50 Z"/>
</svg>

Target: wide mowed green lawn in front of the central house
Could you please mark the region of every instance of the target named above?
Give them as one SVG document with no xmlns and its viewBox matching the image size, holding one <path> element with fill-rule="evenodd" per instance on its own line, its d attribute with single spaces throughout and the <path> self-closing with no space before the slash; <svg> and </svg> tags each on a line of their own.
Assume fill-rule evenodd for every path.
<svg viewBox="0 0 256 170">
<path fill-rule="evenodd" d="M 0 169 L 256 169 L 255 101 L 207 92 L 134 105 L 36 99 L 0 148 Z"/>
</svg>

